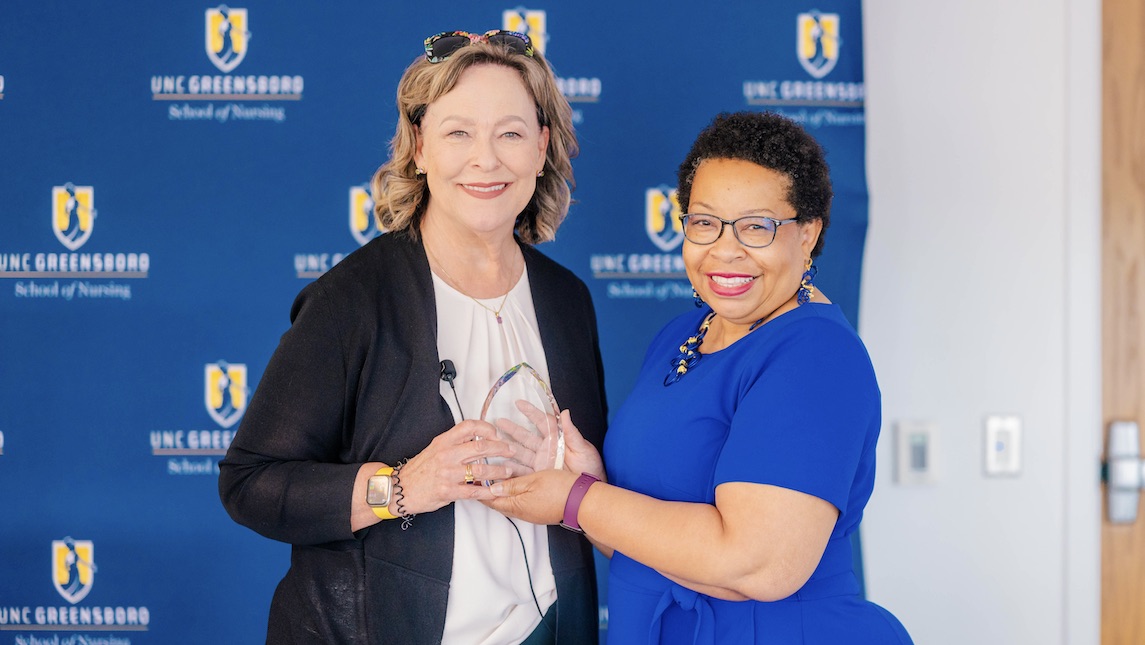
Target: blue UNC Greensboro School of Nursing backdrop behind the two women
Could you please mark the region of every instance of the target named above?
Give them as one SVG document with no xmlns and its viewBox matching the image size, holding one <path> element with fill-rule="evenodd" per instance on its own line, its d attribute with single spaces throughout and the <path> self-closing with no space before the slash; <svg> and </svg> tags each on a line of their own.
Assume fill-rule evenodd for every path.
<svg viewBox="0 0 1145 645">
<path fill-rule="evenodd" d="M 377 233 L 432 33 L 527 31 L 560 77 L 582 155 L 542 250 L 592 290 L 614 409 L 692 307 L 676 168 L 718 112 L 827 148 L 818 282 L 856 321 L 859 0 L 239 1 L 0 6 L 0 645 L 263 639 L 289 546 L 228 518 L 216 464 L 294 296 Z"/>
</svg>

